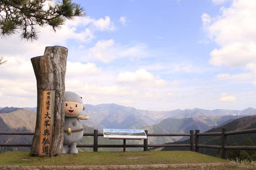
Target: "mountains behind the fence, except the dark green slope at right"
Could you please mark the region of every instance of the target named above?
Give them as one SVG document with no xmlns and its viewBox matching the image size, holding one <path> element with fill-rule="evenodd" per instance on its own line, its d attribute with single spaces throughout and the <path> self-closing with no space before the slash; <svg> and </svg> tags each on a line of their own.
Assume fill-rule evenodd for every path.
<svg viewBox="0 0 256 170">
<path fill-rule="evenodd" d="M 4 107 L 0 109 L 1 131 L 34 131 L 36 123 L 36 107 L 15 108 Z M 247 108 L 242 111 L 236 110 L 204 110 L 204 109 L 177 109 L 175 111 L 145 111 L 132 107 L 124 107 L 117 104 L 99 104 L 96 106 L 86 104 L 82 115 L 87 114 L 90 119 L 81 120 L 85 132 L 92 132 L 103 128 L 108 129 L 145 129 L 148 133 L 189 133 L 190 130 L 199 129 L 201 132 L 218 127 L 230 121 L 256 114 L 256 109 Z M 12 138 L 0 138 L 0 143 L 31 143 L 32 136 L 15 136 Z M 185 140 L 186 137 L 149 137 L 150 144 L 162 144 Z M 85 142 L 82 140 L 81 142 Z M 26 142 L 25 142 L 26 141 Z M 106 139 L 103 140 L 104 143 Z M 91 142 L 91 141 L 90 141 Z M 121 141 L 110 140 L 107 143 L 119 143 Z M 132 144 L 134 140 L 127 140 Z M 143 141 L 135 140 L 142 144 Z M 83 143 L 84 144 L 84 143 Z M 134 144 L 134 143 L 133 143 Z M 83 149 L 84 150 L 84 149 Z"/>
</svg>

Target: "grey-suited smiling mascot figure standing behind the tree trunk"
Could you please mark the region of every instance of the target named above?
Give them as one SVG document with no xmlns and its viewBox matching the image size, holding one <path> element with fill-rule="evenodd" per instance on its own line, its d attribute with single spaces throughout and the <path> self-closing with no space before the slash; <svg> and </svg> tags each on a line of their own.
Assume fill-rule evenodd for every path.
<svg viewBox="0 0 256 170">
<path fill-rule="evenodd" d="M 82 102 L 82 97 L 78 94 L 66 91 L 65 92 L 65 129 L 62 153 L 78 154 L 76 142 L 80 141 L 84 131 L 79 119 L 89 119 L 87 115 L 80 116 L 85 109 Z M 69 147 L 68 147 L 69 146 Z"/>
</svg>

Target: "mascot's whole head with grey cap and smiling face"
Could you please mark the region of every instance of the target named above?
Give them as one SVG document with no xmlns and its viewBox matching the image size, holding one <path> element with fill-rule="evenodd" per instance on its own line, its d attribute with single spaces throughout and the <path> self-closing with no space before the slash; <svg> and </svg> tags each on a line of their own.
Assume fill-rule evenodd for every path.
<svg viewBox="0 0 256 170">
<path fill-rule="evenodd" d="M 82 104 L 82 98 L 78 94 L 66 91 L 64 108 L 65 117 L 78 117 L 85 109 L 85 105 Z"/>
</svg>

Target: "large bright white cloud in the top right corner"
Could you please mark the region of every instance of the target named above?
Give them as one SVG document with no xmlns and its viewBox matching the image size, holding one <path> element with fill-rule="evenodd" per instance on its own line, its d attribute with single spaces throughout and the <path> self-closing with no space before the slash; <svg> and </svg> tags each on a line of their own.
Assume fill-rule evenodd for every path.
<svg viewBox="0 0 256 170">
<path fill-rule="evenodd" d="M 225 0 L 213 0 L 220 4 Z M 255 73 L 256 64 L 256 1 L 233 0 L 230 7 L 220 8 L 220 16 L 203 13 L 203 28 L 219 46 L 210 52 L 214 66 L 239 67 Z M 256 76 L 256 74 L 255 74 Z M 230 77 L 220 74 L 217 78 Z"/>
</svg>

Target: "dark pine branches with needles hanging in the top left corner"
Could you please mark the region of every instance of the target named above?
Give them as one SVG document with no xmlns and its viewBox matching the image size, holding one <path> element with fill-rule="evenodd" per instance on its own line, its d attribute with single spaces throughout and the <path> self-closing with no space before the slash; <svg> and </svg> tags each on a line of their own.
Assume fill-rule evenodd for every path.
<svg viewBox="0 0 256 170">
<path fill-rule="evenodd" d="M 84 15 L 84 8 L 72 0 L 1 0 L 0 35 L 19 32 L 21 39 L 33 41 L 38 39 L 38 27 L 51 26 L 56 31 L 66 19 Z"/>
</svg>

